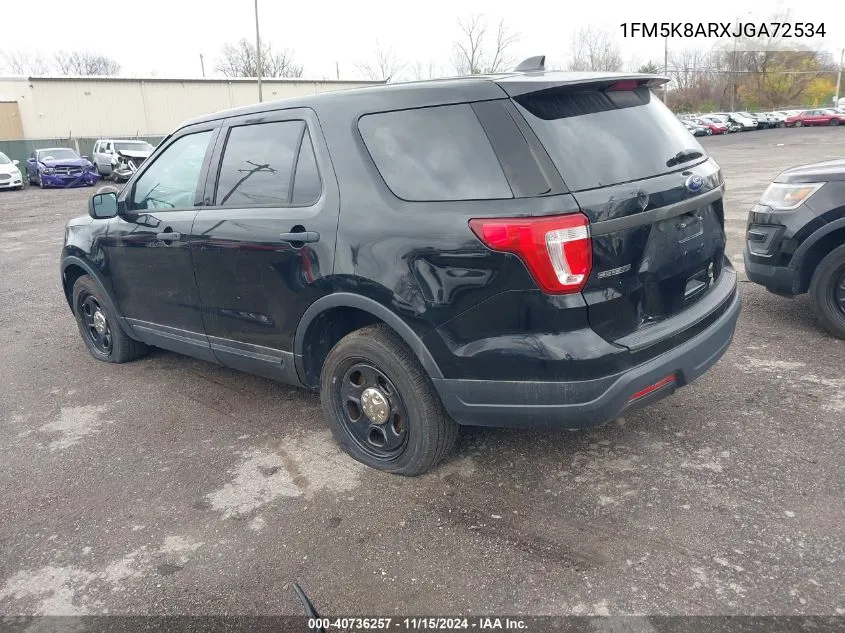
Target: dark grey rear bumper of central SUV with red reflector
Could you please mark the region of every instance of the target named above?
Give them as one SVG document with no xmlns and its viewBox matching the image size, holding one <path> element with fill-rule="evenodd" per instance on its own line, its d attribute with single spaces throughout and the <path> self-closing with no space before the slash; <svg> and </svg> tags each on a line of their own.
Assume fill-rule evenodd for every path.
<svg viewBox="0 0 845 633">
<path fill-rule="evenodd" d="M 460 424 L 584 428 L 609 422 L 673 393 L 705 373 L 733 339 L 741 300 L 735 292 L 725 312 L 681 345 L 612 376 L 579 382 L 435 379 L 448 413 Z M 674 380 L 666 380 L 672 376 Z M 632 397 L 664 384 L 647 395 Z"/>
</svg>

